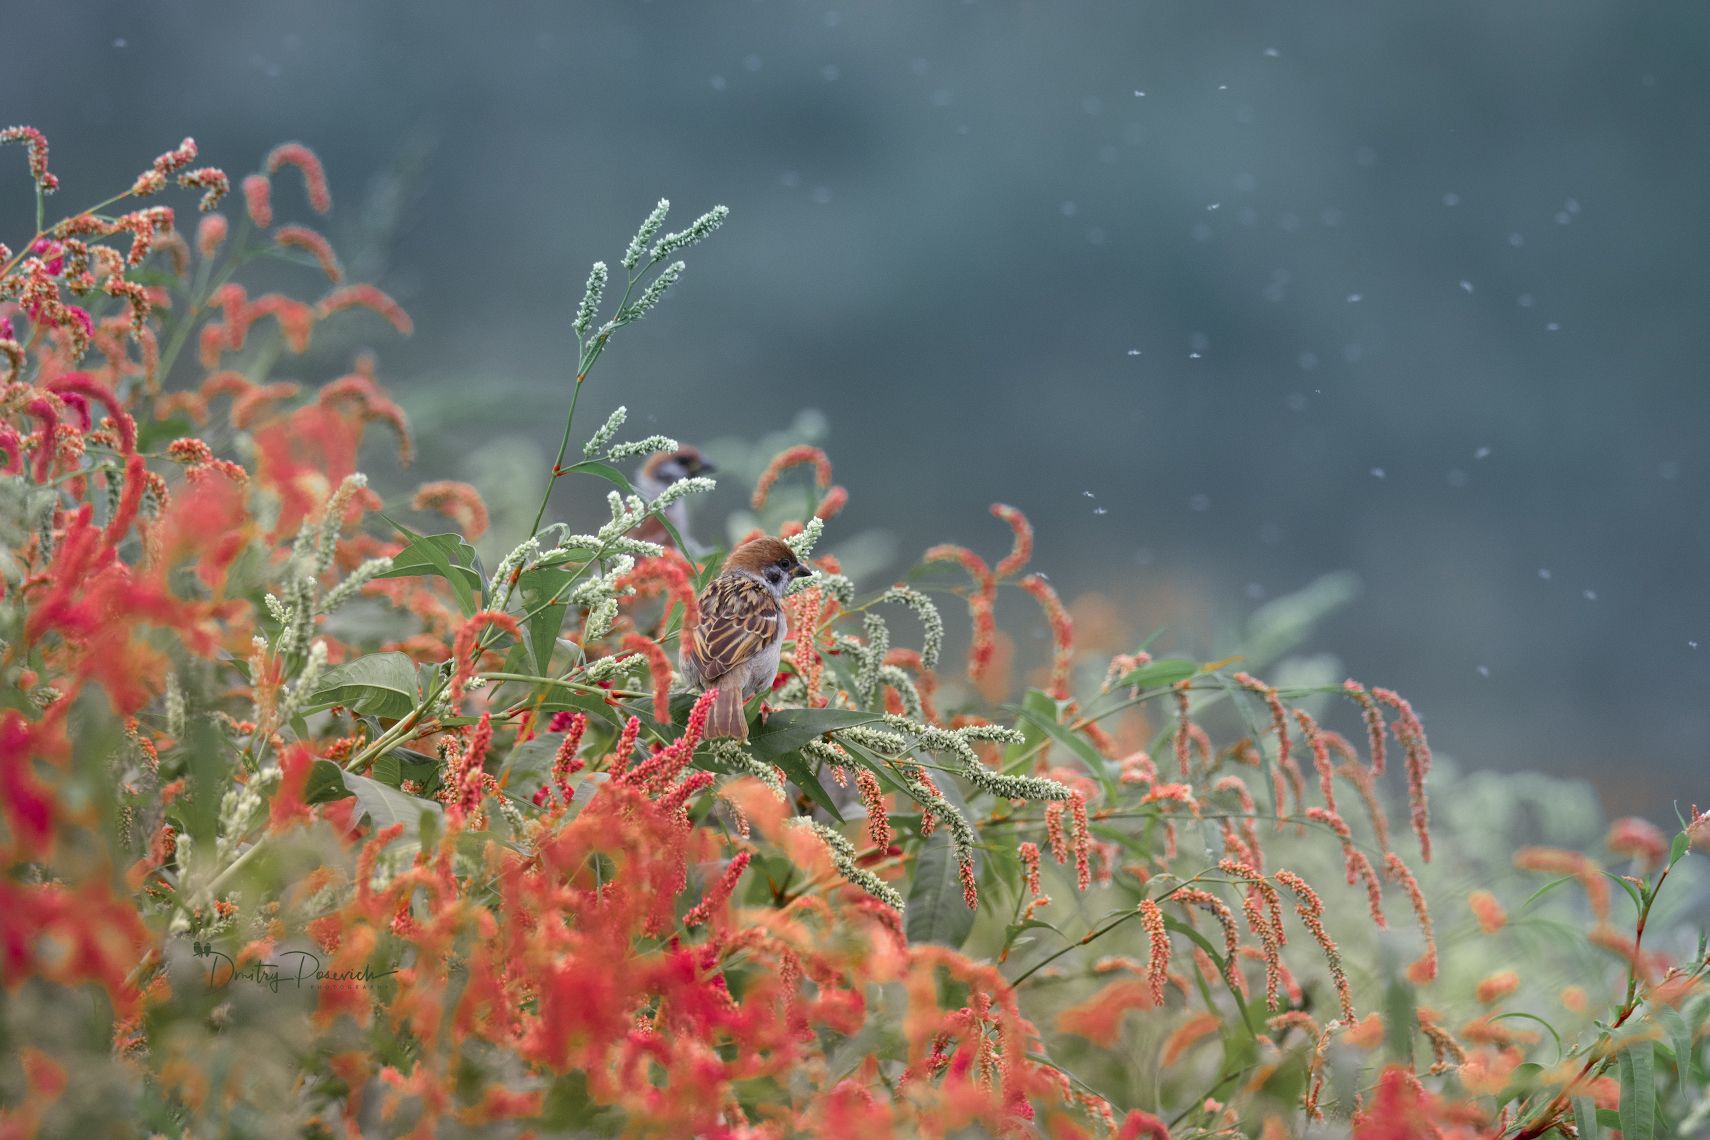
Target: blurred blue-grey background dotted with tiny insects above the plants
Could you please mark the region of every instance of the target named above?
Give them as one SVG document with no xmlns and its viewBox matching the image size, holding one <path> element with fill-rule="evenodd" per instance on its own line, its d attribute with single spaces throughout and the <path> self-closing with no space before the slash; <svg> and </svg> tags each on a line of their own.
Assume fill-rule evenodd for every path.
<svg viewBox="0 0 1710 1140">
<path fill-rule="evenodd" d="M 234 176 L 318 150 L 347 265 L 417 321 L 373 337 L 414 475 L 477 479 L 501 532 L 588 261 L 723 202 L 587 431 L 817 410 L 833 549 L 893 537 L 864 585 L 995 557 L 1002 499 L 1065 596 L 1187 653 L 1347 569 L 1308 648 L 1440 750 L 1710 802 L 1703 5 L 154 0 L 5 36 L 0 120 L 48 133 L 63 210 L 185 133 Z"/>
</svg>

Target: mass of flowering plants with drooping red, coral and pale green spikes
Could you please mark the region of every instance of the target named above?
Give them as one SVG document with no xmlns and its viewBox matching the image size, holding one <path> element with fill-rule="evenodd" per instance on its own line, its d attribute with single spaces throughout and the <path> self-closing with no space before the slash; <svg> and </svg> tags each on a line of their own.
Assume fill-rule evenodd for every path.
<svg viewBox="0 0 1710 1140">
<path fill-rule="evenodd" d="M 373 357 L 311 393 L 272 378 L 351 309 L 410 332 L 277 222 L 287 171 L 330 209 L 306 147 L 267 156 L 234 219 L 186 138 L 48 224 L 46 140 L 0 142 L 27 149 L 38 207 L 0 246 L 0 1133 L 1631 1137 L 1705 1116 L 1705 949 L 1645 942 L 1701 815 L 1611 837 L 1631 935 L 1590 856 L 1515 856 L 1582 884 L 1621 971 L 1607 1020 L 1544 1022 L 1556 1056 L 1532 1060 L 1505 1019 L 1542 1019 L 1498 1012 L 1522 984 L 1498 971 L 1454 1025 L 1409 702 L 1077 651 L 1014 508 L 992 508 L 995 564 L 937 545 L 864 591 L 814 554 L 848 499 L 829 458 L 778 455 L 752 509 L 821 573 L 787 600 L 749 742 L 703 740 L 708 697 L 674 689 L 670 653 L 718 557 L 669 509 L 711 480 L 638 494 L 619 465 L 677 443 L 614 443 L 622 410 L 571 444 L 600 356 L 722 207 L 665 232 L 660 202 L 621 273 L 593 265 L 557 458 L 489 573 L 474 487 L 388 504 L 357 472 L 374 426 L 410 453 Z M 202 191 L 188 239 L 139 205 L 173 181 Z M 263 256 L 328 289 L 251 297 Z M 609 485 L 595 533 L 547 523 L 571 477 Z M 1052 634 L 1019 692 L 1011 586 Z M 1471 904 L 1489 938 L 1518 926 Z"/>
</svg>

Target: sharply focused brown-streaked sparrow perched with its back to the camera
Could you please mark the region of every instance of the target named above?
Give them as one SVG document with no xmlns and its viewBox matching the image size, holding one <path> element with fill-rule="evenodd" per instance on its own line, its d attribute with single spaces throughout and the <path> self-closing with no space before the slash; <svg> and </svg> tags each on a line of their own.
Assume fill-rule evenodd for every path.
<svg viewBox="0 0 1710 1140">
<path fill-rule="evenodd" d="M 747 740 L 742 704 L 778 677 L 778 649 L 788 632 L 783 591 L 790 579 L 812 573 L 778 538 L 756 538 L 732 550 L 701 591 L 701 622 L 684 638 L 677 668 L 693 687 L 718 689 L 708 737 Z"/>
</svg>

